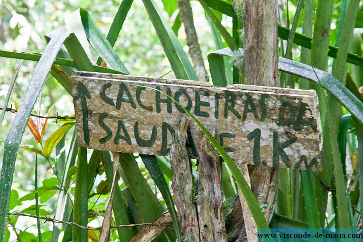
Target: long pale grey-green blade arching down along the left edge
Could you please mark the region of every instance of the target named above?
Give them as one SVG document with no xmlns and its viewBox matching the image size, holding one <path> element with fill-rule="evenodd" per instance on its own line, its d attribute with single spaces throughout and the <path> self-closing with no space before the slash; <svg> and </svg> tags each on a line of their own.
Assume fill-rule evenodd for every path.
<svg viewBox="0 0 363 242">
<path fill-rule="evenodd" d="M 68 34 L 61 30 L 55 30 L 56 38 L 50 40 L 44 50 L 44 55 L 40 58 L 38 65 L 35 67 L 30 79 L 28 88 L 24 94 L 23 101 L 20 104 L 18 112 L 15 115 L 13 124 L 10 128 L 9 135 L 5 141 L 3 168 L 0 183 L 0 240 L 5 237 L 6 221 L 9 207 L 9 198 L 11 186 L 13 183 L 13 174 L 15 161 L 20 146 L 25 127 L 28 123 L 29 116 L 33 110 L 34 104 L 40 94 L 42 86 L 47 78 L 55 57 L 62 48 Z"/>
</svg>

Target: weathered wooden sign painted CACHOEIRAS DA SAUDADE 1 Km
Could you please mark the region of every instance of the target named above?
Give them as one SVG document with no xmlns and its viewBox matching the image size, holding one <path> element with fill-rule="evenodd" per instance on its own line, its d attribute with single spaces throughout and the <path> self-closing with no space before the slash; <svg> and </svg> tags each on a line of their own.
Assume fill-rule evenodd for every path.
<svg viewBox="0 0 363 242">
<path fill-rule="evenodd" d="M 236 163 L 322 168 L 315 91 L 89 72 L 72 78 L 81 147 L 167 156 L 178 120 L 189 116 L 166 93 L 215 131 Z M 191 123 L 190 150 L 198 157 L 199 128 Z"/>
</svg>

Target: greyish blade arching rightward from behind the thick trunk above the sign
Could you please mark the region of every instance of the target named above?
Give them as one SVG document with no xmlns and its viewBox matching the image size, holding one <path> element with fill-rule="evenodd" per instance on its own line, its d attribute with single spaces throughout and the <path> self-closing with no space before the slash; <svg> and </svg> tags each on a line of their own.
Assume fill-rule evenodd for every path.
<svg viewBox="0 0 363 242">
<path fill-rule="evenodd" d="M 243 49 L 240 49 L 243 54 Z M 229 48 L 224 48 L 210 53 L 232 56 L 232 52 Z M 313 69 L 312 67 L 301 64 L 298 62 L 291 61 L 286 58 L 279 58 L 280 71 L 294 74 L 296 76 L 308 79 L 315 83 L 319 83 L 317 76 L 320 80 L 321 85 L 330 94 L 332 94 L 351 114 L 353 114 L 360 122 L 363 122 L 363 103 L 355 97 L 343 84 L 341 84 L 332 74 L 324 72 L 319 69 Z M 220 72 L 222 70 L 211 69 L 211 76 L 213 72 Z"/>
</svg>

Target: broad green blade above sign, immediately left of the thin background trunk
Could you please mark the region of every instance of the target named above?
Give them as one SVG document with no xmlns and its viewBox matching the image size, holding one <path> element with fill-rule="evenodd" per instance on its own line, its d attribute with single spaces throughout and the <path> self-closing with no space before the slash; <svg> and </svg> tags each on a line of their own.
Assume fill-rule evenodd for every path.
<svg viewBox="0 0 363 242">
<path fill-rule="evenodd" d="M 155 31 L 164 52 L 169 59 L 171 69 L 177 79 L 198 80 L 198 77 L 189 61 L 187 54 L 175 36 L 175 33 L 164 19 L 160 9 L 153 0 L 143 0 L 149 18 L 154 25 Z"/>
</svg>

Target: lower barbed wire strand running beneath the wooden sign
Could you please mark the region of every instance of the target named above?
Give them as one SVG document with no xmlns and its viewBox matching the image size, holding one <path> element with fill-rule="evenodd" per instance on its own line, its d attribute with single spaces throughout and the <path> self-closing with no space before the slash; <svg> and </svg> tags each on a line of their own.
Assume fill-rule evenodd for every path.
<svg viewBox="0 0 363 242">
<path fill-rule="evenodd" d="M 80 227 L 82 229 L 86 229 L 86 230 L 101 230 L 101 227 L 97 227 L 97 228 L 91 228 L 91 227 L 86 227 L 83 225 L 80 225 L 78 223 L 74 223 L 74 222 L 68 222 L 68 221 L 62 221 L 62 220 L 57 220 L 51 217 L 39 217 L 39 216 L 35 216 L 35 215 L 31 215 L 31 214 L 26 214 L 26 213 L 8 213 L 8 215 L 14 215 L 14 216 L 26 216 L 26 217 L 31 217 L 31 218 L 38 218 L 38 219 L 43 219 L 45 220 L 45 222 L 52 222 L 52 223 L 64 223 L 64 224 L 68 224 L 68 225 L 72 225 L 72 226 L 77 226 Z M 111 228 L 125 228 L 125 227 L 136 227 L 136 226 L 147 226 L 147 225 L 154 225 L 154 226 L 171 226 L 172 223 L 157 223 L 157 222 L 152 222 L 152 223 L 132 223 L 132 224 L 122 224 L 122 225 L 116 225 L 116 226 L 110 226 Z"/>
</svg>

